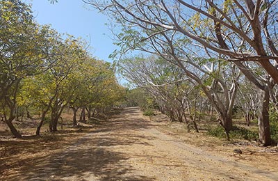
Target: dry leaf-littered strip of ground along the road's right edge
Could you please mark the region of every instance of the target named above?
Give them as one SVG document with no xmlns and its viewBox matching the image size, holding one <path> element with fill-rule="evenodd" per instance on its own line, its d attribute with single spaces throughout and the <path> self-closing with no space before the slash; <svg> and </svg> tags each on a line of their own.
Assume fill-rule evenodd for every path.
<svg viewBox="0 0 278 181">
<path fill-rule="evenodd" d="M 209 136 L 207 134 L 208 125 L 217 124 L 212 124 L 206 120 L 202 120 L 198 123 L 200 128 L 199 133 L 196 133 L 194 129 L 191 129 L 190 132 L 188 132 L 184 123 L 170 122 L 169 118 L 161 113 L 158 113 L 156 116 L 152 116 L 151 120 L 160 123 L 160 127 L 158 127 L 158 129 L 161 132 L 170 134 L 185 143 L 189 143 L 190 145 L 202 148 L 202 150 L 218 152 L 220 155 L 229 157 L 238 157 L 238 159 L 245 163 L 252 163 L 254 166 L 261 166 L 268 171 L 274 170 L 278 162 L 277 146 L 272 145 L 263 147 L 256 141 L 247 141 L 245 139 L 233 139 L 231 141 L 227 141 L 227 139 Z M 247 127 L 242 120 L 234 121 L 234 125 Z M 252 123 L 250 127 L 250 129 L 256 129 L 256 124 Z M 236 148 L 243 150 L 243 154 L 234 155 L 233 150 Z"/>
</svg>

